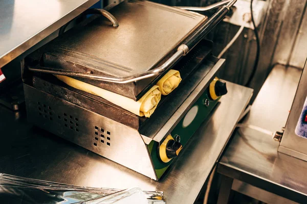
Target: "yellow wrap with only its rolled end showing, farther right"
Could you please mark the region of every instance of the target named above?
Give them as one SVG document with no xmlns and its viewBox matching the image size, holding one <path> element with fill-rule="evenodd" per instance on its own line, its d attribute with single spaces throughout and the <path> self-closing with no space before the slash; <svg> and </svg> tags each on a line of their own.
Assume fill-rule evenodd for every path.
<svg viewBox="0 0 307 204">
<path fill-rule="evenodd" d="M 169 70 L 157 83 L 162 95 L 167 95 L 176 89 L 181 82 L 180 73 L 177 70 Z"/>
</svg>

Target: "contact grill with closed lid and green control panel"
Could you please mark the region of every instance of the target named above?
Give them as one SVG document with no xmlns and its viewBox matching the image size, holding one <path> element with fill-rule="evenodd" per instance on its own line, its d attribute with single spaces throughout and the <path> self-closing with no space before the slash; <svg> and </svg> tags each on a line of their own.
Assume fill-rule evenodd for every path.
<svg viewBox="0 0 307 204">
<path fill-rule="evenodd" d="M 224 59 L 202 40 L 234 4 L 211 18 L 147 1 L 125 1 L 29 55 L 23 63 L 28 120 L 43 129 L 159 180 L 227 93 L 216 78 Z M 107 22 L 107 23 L 106 23 Z M 118 28 L 114 28 L 118 27 Z M 170 68 L 180 86 L 150 118 L 63 84 L 51 74 L 138 100 Z"/>
</svg>

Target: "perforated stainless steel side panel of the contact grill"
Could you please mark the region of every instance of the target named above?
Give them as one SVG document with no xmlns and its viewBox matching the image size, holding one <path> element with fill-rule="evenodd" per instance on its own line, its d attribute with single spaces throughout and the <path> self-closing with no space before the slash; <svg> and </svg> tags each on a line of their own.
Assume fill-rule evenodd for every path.
<svg viewBox="0 0 307 204">
<path fill-rule="evenodd" d="M 27 84 L 24 89 L 30 122 L 156 180 L 137 130 Z"/>
</svg>

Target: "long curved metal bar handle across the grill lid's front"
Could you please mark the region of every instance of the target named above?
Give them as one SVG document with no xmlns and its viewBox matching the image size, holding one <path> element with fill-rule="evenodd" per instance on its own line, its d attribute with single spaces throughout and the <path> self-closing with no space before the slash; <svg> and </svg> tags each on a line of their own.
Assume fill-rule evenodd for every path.
<svg viewBox="0 0 307 204">
<path fill-rule="evenodd" d="M 172 67 L 172 65 L 174 65 L 182 56 L 188 54 L 189 50 L 191 50 L 197 43 L 199 43 L 215 27 L 215 25 L 226 16 L 226 14 L 229 12 L 229 8 L 233 6 L 236 1 L 237 0 L 231 0 L 227 5 L 218 9 L 218 11 L 201 26 L 201 28 L 195 31 L 195 33 L 193 33 L 184 42 L 184 44 L 178 47 L 176 53 L 174 53 L 161 66 L 155 69 L 144 71 L 142 73 L 134 74 L 128 77 L 105 77 L 105 76 L 101 76 L 97 74 L 66 71 L 66 70 L 61 70 L 61 69 L 39 67 L 39 66 L 28 67 L 28 69 L 34 72 L 59 74 L 59 75 L 65 75 L 69 77 L 78 77 L 78 78 L 99 80 L 99 81 L 112 82 L 112 83 L 118 83 L 118 84 L 126 84 L 130 82 L 135 82 L 135 81 L 151 78 L 151 77 L 154 77 L 155 75 L 168 71 Z"/>
</svg>

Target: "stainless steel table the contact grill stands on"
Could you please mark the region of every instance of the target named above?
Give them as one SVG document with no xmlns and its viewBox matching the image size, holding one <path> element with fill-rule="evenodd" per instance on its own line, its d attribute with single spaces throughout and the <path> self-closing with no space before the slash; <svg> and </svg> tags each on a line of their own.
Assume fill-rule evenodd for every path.
<svg viewBox="0 0 307 204">
<path fill-rule="evenodd" d="M 167 204 L 193 203 L 252 89 L 228 83 L 228 94 L 158 182 L 27 123 L 24 113 L 0 108 L 0 172 L 80 186 L 164 191 Z"/>
</svg>

